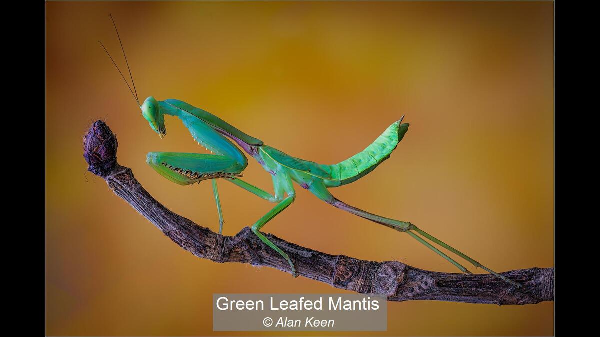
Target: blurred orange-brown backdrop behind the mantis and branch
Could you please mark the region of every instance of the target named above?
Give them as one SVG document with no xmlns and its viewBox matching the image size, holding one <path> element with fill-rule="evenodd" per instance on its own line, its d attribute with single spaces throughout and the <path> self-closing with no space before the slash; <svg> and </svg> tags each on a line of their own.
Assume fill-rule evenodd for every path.
<svg viewBox="0 0 600 337">
<path fill-rule="evenodd" d="M 82 136 L 105 119 L 119 163 L 174 212 L 218 230 L 210 183 L 175 185 L 146 165 L 150 151 L 204 150 L 177 119 L 167 116 L 161 140 L 142 118 L 97 42 L 125 70 L 109 13 L 140 100 L 186 101 L 322 164 L 361 151 L 406 114 L 410 131 L 391 159 L 331 191 L 496 270 L 554 265 L 552 2 L 47 2 L 48 335 L 304 335 L 213 332 L 212 293 L 344 292 L 194 257 L 84 174 Z M 254 161 L 245 177 L 272 191 Z M 272 207 L 219 188 L 226 234 Z M 330 254 L 457 271 L 302 188 L 263 230 Z M 388 330 L 372 335 L 553 334 L 553 302 L 388 308 Z"/>
</svg>

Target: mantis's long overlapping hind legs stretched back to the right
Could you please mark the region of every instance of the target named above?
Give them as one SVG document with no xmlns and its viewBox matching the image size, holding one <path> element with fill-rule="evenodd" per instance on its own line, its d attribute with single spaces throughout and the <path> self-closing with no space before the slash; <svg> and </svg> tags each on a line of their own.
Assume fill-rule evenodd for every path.
<svg viewBox="0 0 600 337">
<path fill-rule="evenodd" d="M 334 195 L 331 194 L 331 192 L 329 192 L 329 190 L 326 188 L 326 186 L 324 184 L 313 183 L 313 185 L 311 185 L 309 189 L 311 192 L 313 192 L 313 194 L 317 195 L 317 197 L 319 197 L 320 199 L 326 201 L 329 204 L 332 204 L 333 206 L 335 206 L 341 210 L 345 210 L 346 212 L 361 216 L 362 218 L 369 219 L 373 222 L 377 222 L 378 224 L 382 224 L 387 227 L 394 228 L 395 230 L 398 230 L 398 231 L 406 231 L 406 233 L 408 233 L 410 236 L 414 237 L 416 240 L 418 240 L 419 242 L 421 242 L 422 244 L 427 246 L 427 248 L 433 250 L 434 252 L 436 252 L 437 254 L 439 254 L 440 256 L 445 258 L 446 260 L 448 260 L 450 263 L 457 266 L 458 269 L 462 270 L 463 272 L 471 273 L 462 264 L 458 263 L 453 258 L 449 257 L 444 252 L 440 251 L 440 249 L 437 249 L 435 246 L 431 245 L 430 242 L 427 242 L 427 240 L 423 239 L 421 236 L 414 233 L 413 230 L 416 231 L 417 233 L 421 234 L 422 236 L 427 237 L 427 239 L 430 239 L 431 241 L 437 243 L 438 245 L 448 249 L 449 251 L 454 252 L 454 254 L 457 254 L 458 256 L 464 258 L 465 260 L 472 263 L 474 266 L 481 267 L 482 269 L 485 269 L 488 272 L 493 273 L 494 275 L 498 276 L 499 278 L 503 279 L 504 281 L 509 282 L 510 284 L 516 285 L 517 287 L 521 287 L 521 284 L 518 284 L 517 282 L 512 281 L 509 278 L 506 278 L 506 276 L 500 275 L 500 273 L 494 272 L 494 270 L 491 270 L 490 268 L 485 267 L 478 261 L 469 257 L 468 255 L 464 254 L 463 252 L 459 251 L 458 249 L 448 245 L 448 243 L 445 243 L 442 240 L 437 239 L 437 237 L 434 237 L 433 235 L 427 233 L 426 231 L 421 230 L 421 228 L 416 227 L 416 225 L 414 225 L 410 222 L 386 218 L 385 216 L 376 215 L 374 213 L 367 212 L 366 210 L 359 209 L 358 207 L 350 206 L 349 204 L 344 203 L 344 201 L 341 201 L 338 198 L 334 197 Z"/>
</svg>

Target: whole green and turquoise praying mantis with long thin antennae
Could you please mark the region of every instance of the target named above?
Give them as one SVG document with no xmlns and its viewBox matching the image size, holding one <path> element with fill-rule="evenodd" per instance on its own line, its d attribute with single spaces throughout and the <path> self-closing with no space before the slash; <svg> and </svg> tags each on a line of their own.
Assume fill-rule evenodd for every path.
<svg viewBox="0 0 600 337">
<path fill-rule="evenodd" d="M 112 16 L 111 16 L 112 19 Z M 113 24 L 114 24 L 113 20 Z M 116 24 L 115 24 L 116 30 Z M 121 37 L 118 35 L 119 43 L 121 43 Z M 104 47 L 104 45 L 103 45 Z M 127 56 L 121 43 L 121 48 L 125 56 L 125 62 L 127 62 Z M 104 48 L 106 50 L 106 48 Z M 109 55 L 108 51 L 106 53 Z M 115 61 L 110 57 L 115 64 L 115 67 L 119 70 Z M 378 224 L 385 225 L 390 228 L 394 228 L 398 231 L 406 231 L 410 236 L 414 237 L 425 246 L 441 255 L 446 260 L 458 267 L 463 272 L 470 273 L 470 271 L 462 264 L 458 263 L 454 258 L 449 257 L 440 249 L 436 248 L 432 243 L 425 240 L 429 239 L 433 243 L 454 252 L 458 256 L 469 261 L 476 267 L 481 267 L 490 273 L 502 278 L 503 280 L 514 284 L 517 287 L 521 287 L 515 281 L 506 278 L 504 275 L 500 275 L 494 270 L 483 266 L 473 258 L 467 256 L 458 249 L 448 245 L 437 237 L 432 236 L 421 228 L 417 227 L 407 221 L 400 221 L 392 218 L 386 218 L 384 216 L 376 215 L 374 213 L 367 212 L 366 210 L 359 209 L 355 206 L 350 206 L 347 203 L 336 198 L 329 188 L 334 188 L 341 185 L 354 182 L 367 175 L 370 171 L 373 171 L 379 164 L 387 160 L 392 151 L 394 151 L 398 143 L 403 139 L 404 135 L 409 130 L 408 123 L 402 123 L 404 116 L 400 120 L 390 125 L 384 132 L 379 136 L 371 145 L 367 146 L 363 151 L 356 155 L 348 158 L 347 160 L 341 161 L 338 164 L 323 165 L 317 164 L 313 161 L 302 160 L 300 158 L 292 157 L 278 149 L 272 148 L 271 146 L 265 145 L 262 140 L 249 136 L 248 134 L 238 130 L 229 123 L 223 121 L 215 115 L 212 115 L 205 110 L 191 106 L 188 103 L 179 100 L 164 100 L 157 101 L 154 97 L 148 97 L 140 104 L 139 98 L 137 97 L 137 89 L 133 82 L 133 74 L 127 62 L 127 67 L 131 76 L 131 82 L 133 89 L 129 86 L 127 79 L 123 76 L 121 70 L 121 76 L 127 83 L 131 94 L 136 99 L 137 104 L 142 110 L 142 115 L 149 122 L 150 127 L 154 130 L 161 139 L 167 134 L 166 127 L 164 124 L 164 115 L 175 116 L 184 123 L 185 127 L 190 130 L 190 133 L 194 137 L 194 140 L 200 145 L 208 149 L 211 154 L 196 154 L 196 153 L 182 153 L 182 152 L 150 152 L 146 157 L 146 162 L 161 176 L 166 177 L 172 182 L 178 183 L 179 185 L 193 185 L 203 180 L 212 180 L 213 191 L 215 200 L 217 203 L 217 210 L 220 219 L 220 233 L 223 231 L 223 213 L 221 211 L 221 203 L 219 192 L 217 188 L 217 179 L 222 178 L 231 182 L 242 189 L 245 189 L 265 200 L 275 203 L 273 209 L 267 212 L 262 218 L 258 219 L 253 226 L 253 232 L 263 241 L 266 245 L 275 249 L 281 254 L 290 264 L 290 271 L 292 275 L 297 276 L 296 267 L 289 257 L 282 249 L 275 245 L 271 240 L 268 239 L 260 229 L 266 225 L 276 215 L 286 209 L 296 199 L 296 192 L 293 183 L 297 183 L 302 188 L 308 189 L 321 200 L 327 204 L 331 204 L 339 209 L 345 210 L 352 214 L 361 216 L 362 218 L 368 219 Z M 242 180 L 241 173 L 248 166 L 248 158 L 244 152 L 240 151 L 237 144 L 242 148 L 245 154 L 250 155 L 254 160 L 259 163 L 263 169 L 271 174 L 274 193 L 271 194 L 264 189 L 252 185 L 251 183 Z M 419 235 L 420 234 L 420 235 Z"/>
</svg>

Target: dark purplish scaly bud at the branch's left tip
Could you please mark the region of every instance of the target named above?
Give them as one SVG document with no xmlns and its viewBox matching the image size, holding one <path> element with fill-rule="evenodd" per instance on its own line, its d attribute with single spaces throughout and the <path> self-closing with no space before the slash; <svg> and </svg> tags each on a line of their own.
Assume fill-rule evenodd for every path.
<svg viewBox="0 0 600 337">
<path fill-rule="evenodd" d="M 116 164 L 116 149 L 119 142 L 109 126 L 96 121 L 83 136 L 83 157 L 88 162 L 88 171 L 104 177 Z"/>
</svg>

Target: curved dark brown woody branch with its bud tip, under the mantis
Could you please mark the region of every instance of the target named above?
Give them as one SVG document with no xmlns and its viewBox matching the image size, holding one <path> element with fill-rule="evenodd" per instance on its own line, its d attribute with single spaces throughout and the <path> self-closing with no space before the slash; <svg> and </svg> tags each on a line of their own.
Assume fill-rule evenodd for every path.
<svg viewBox="0 0 600 337">
<path fill-rule="evenodd" d="M 119 197 L 155 224 L 166 236 L 197 257 L 251 263 L 291 272 L 287 261 L 265 245 L 250 227 L 235 236 L 214 233 L 171 212 L 146 191 L 133 171 L 116 161 L 118 142 L 108 125 L 95 122 L 84 137 L 89 171 L 103 177 Z M 290 255 L 298 274 L 337 288 L 359 293 L 386 294 L 388 300 L 449 300 L 454 302 L 526 304 L 554 300 L 554 268 L 511 270 L 502 273 L 523 284 L 517 288 L 491 274 L 443 273 L 423 270 L 400 261 L 368 261 L 331 255 L 266 234 Z"/>
</svg>

